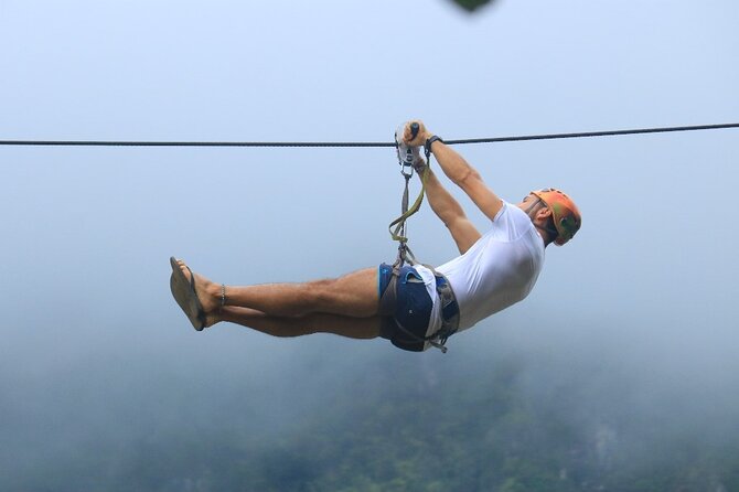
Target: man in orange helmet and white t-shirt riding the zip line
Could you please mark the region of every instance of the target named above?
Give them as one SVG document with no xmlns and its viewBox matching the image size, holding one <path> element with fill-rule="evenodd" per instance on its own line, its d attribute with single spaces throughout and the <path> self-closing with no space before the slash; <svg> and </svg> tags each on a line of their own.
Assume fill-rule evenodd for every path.
<svg viewBox="0 0 739 492">
<path fill-rule="evenodd" d="M 460 204 L 427 171 L 431 210 L 449 228 L 460 256 L 436 270 L 366 268 L 336 279 L 304 284 L 225 286 L 193 274 L 171 258 L 170 286 L 196 330 L 228 321 L 275 336 L 335 333 L 354 339 L 383 336 L 396 346 L 443 349 L 446 339 L 524 299 L 534 287 L 550 243 L 564 245 L 580 227 L 580 213 L 563 192 L 529 193 L 513 205 L 485 185 L 480 174 L 422 122 L 406 124 L 400 146 L 426 146 L 443 173 L 491 221 L 481 234 Z M 382 301 L 382 302 L 381 302 Z"/>
</svg>

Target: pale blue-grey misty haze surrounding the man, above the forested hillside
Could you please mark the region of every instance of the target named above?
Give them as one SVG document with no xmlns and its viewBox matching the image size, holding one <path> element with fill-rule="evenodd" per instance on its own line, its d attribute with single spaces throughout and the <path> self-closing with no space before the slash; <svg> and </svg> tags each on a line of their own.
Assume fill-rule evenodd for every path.
<svg viewBox="0 0 739 492">
<path fill-rule="evenodd" d="M 0 0 L 0 139 L 390 141 L 411 117 L 448 139 L 737 122 L 738 21 L 730 0 L 501 0 L 473 15 L 442 0 Z M 417 378 L 473 392 L 505 367 L 522 402 L 606 458 L 658 457 L 673 431 L 686 449 L 736 449 L 738 136 L 458 147 L 506 200 L 567 190 L 583 227 L 548 248 L 525 302 L 446 355 L 197 333 L 169 292 L 171 255 L 226 284 L 393 259 L 392 149 L 0 147 L 0 489 L 94 477 L 113 490 L 174 449 L 196 479 L 204 456 L 233 459 L 222 437 L 291 449 L 336 400 L 363 408 L 367 385 L 400 402 Z M 422 260 L 453 256 L 427 206 L 409 232 Z"/>
</svg>

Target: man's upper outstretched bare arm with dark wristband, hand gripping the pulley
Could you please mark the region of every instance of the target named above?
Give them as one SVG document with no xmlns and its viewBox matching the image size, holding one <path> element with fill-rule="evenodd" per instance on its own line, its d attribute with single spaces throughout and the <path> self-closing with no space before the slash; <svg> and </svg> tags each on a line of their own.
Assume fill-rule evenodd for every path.
<svg viewBox="0 0 739 492">
<path fill-rule="evenodd" d="M 409 146 L 422 146 L 433 135 L 426 129 L 422 122 L 418 121 L 418 124 L 420 131 L 418 131 L 418 136 L 413 140 L 410 140 L 409 125 L 406 125 L 404 140 Z M 456 150 L 439 140 L 431 143 L 431 152 L 433 152 L 441 170 L 452 183 L 461 188 L 483 214 L 491 221 L 494 220 L 495 215 L 503 207 L 503 201 L 488 188 L 480 173 Z"/>
</svg>

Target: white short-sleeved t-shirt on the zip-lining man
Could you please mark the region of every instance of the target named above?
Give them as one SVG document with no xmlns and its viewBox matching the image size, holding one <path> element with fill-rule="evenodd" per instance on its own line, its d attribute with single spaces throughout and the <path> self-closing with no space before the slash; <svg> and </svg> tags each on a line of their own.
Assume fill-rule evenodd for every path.
<svg viewBox="0 0 739 492">
<path fill-rule="evenodd" d="M 491 228 L 462 256 L 437 268 L 451 285 L 459 304 L 459 331 L 467 330 L 521 300 L 534 288 L 544 265 L 544 240 L 532 220 L 517 206 L 503 202 Z M 433 274 L 420 265 L 433 299 L 427 333 L 441 327 L 440 302 Z"/>
</svg>

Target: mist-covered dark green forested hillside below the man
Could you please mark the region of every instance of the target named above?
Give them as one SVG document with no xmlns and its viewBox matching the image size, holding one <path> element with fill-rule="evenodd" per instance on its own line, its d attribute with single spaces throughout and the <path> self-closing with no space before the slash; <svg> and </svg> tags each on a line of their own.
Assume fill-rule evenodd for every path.
<svg viewBox="0 0 739 492">
<path fill-rule="evenodd" d="M 514 359 L 439 359 L 400 354 L 334 379 L 318 410 L 285 414 L 289 426 L 257 430 L 224 413 L 210 427 L 160 427 L 126 446 L 89 442 L 3 490 L 739 490 L 735 441 L 675 435 L 660 419 L 650 432 L 630 429 L 629 416 L 576 389 L 582 381 L 532 391 L 540 382 L 525 381 Z"/>
</svg>

